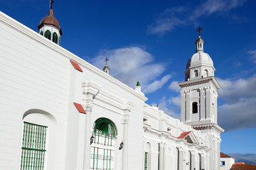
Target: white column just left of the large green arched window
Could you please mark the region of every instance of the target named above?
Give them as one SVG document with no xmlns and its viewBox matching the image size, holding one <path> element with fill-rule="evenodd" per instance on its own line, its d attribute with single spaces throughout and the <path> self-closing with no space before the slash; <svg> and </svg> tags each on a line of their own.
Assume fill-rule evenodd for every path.
<svg viewBox="0 0 256 170">
<path fill-rule="evenodd" d="M 91 146 L 90 146 L 90 137 L 91 137 L 91 113 L 92 113 L 92 94 L 86 94 L 84 98 L 84 108 L 85 108 L 85 150 L 84 150 L 84 164 L 83 169 L 90 170 L 90 159 L 91 159 Z"/>
</svg>

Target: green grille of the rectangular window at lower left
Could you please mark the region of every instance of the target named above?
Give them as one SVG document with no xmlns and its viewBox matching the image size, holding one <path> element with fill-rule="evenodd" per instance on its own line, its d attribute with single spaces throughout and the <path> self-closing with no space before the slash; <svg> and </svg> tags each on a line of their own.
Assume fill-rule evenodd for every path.
<svg viewBox="0 0 256 170">
<path fill-rule="evenodd" d="M 43 170 L 46 156 L 46 130 L 43 125 L 23 123 L 21 170 Z"/>
</svg>

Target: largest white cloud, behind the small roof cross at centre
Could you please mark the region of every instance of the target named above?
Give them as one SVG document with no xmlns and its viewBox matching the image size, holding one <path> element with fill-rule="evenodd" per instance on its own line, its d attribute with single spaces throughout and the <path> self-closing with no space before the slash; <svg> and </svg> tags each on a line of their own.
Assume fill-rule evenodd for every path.
<svg viewBox="0 0 256 170">
<path fill-rule="evenodd" d="M 110 75 L 132 88 L 137 81 L 143 88 L 160 77 L 165 70 L 164 64 L 153 63 L 153 56 L 140 47 L 102 50 L 99 56 L 92 59 L 92 64 L 103 69 L 106 57 L 110 60 Z"/>
</svg>

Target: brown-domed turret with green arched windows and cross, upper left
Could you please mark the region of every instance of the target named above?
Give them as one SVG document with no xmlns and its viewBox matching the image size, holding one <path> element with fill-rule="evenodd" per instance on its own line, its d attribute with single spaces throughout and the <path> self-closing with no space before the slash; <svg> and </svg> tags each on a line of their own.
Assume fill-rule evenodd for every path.
<svg viewBox="0 0 256 170">
<path fill-rule="evenodd" d="M 39 33 L 45 38 L 60 45 L 60 36 L 63 35 L 58 20 L 53 16 L 53 0 L 50 1 L 48 16 L 43 18 L 38 26 Z"/>
</svg>

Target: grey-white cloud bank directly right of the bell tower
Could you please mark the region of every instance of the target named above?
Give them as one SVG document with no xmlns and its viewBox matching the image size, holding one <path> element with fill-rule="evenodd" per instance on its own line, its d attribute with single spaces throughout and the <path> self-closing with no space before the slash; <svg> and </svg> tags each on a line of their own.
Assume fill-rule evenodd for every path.
<svg viewBox="0 0 256 170">
<path fill-rule="evenodd" d="M 225 130 L 256 127 L 256 74 L 247 79 L 219 79 L 219 97 L 225 104 L 218 108 L 218 122 Z"/>
</svg>

